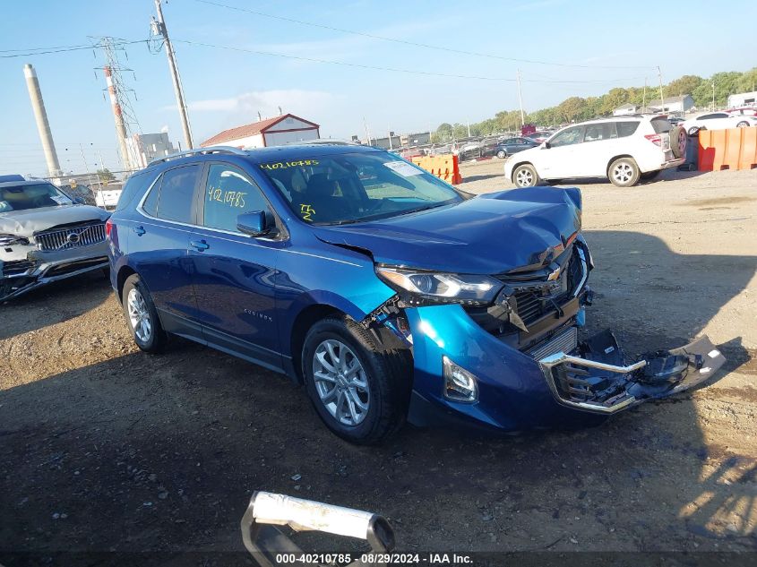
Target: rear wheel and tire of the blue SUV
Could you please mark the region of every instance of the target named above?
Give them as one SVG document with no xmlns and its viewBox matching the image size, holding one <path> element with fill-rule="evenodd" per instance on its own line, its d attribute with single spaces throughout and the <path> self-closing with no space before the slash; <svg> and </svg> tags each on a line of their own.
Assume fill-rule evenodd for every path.
<svg viewBox="0 0 757 567">
<path fill-rule="evenodd" d="M 126 279 L 122 291 L 122 305 L 126 324 L 137 347 L 153 354 L 163 350 L 168 335 L 163 331 L 158 310 L 139 275 L 132 274 Z"/>
</svg>

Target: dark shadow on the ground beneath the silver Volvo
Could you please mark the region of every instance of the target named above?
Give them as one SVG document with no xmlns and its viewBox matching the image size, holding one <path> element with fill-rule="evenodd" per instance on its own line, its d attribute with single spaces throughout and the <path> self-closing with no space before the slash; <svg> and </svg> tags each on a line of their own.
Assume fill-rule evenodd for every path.
<svg viewBox="0 0 757 567">
<path fill-rule="evenodd" d="M 101 305 L 113 294 L 102 271 L 54 281 L 0 303 L 0 339 L 64 322 Z"/>
</svg>

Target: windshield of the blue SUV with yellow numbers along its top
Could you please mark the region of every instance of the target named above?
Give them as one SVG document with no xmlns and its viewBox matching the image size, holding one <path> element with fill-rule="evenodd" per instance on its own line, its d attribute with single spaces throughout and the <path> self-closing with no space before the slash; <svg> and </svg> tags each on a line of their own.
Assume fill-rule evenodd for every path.
<svg viewBox="0 0 757 567">
<path fill-rule="evenodd" d="M 260 164 L 305 222 L 347 224 L 462 201 L 450 185 L 384 152 Z"/>
</svg>

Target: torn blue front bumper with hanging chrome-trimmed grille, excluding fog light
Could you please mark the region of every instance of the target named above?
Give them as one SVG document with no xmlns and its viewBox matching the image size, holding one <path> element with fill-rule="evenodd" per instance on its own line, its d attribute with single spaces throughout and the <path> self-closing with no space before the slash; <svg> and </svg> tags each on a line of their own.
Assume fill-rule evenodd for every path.
<svg viewBox="0 0 757 567">
<path fill-rule="evenodd" d="M 725 362 L 707 338 L 628 364 L 611 333 L 579 344 L 573 322 L 522 351 L 484 331 L 460 305 L 418 307 L 405 314 L 413 339 L 409 421 L 415 425 L 500 432 L 599 425 L 645 399 L 691 388 Z M 444 396 L 443 357 L 476 376 L 475 403 Z"/>
</svg>

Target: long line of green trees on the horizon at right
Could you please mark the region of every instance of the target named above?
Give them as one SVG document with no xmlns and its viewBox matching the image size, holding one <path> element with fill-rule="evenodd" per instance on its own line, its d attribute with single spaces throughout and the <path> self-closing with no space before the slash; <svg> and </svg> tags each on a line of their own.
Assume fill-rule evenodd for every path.
<svg viewBox="0 0 757 567">
<path fill-rule="evenodd" d="M 667 85 L 663 85 L 662 91 L 665 98 L 690 94 L 694 100 L 694 106 L 707 108 L 712 104 L 713 85 L 715 85 L 715 105 L 717 107 L 726 106 L 728 95 L 757 90 L 755 89 L 757 67 L 753 67 L 753 69 L 744 73 L 737 71 L 715 73 L 708 79 L 698 75 L 684 75 L 667 83 Z M 585 99 L 570 97 L 564 99 L 555 107 L 542 108 L 529 113 L 525 116 L 526 124 L 555 126 L 589 120 L 598 116 L 611 116 L 615 108 L 624 104 L 630 103 L 641 107 L 645 102 L 649 105 L 652 100 L 659 100 L 659 91 L 658 86 L 648 85 L 646 93 L 642 86 L 628 89 L 615 88 L 598 97 L 587 97 Z M 469 129 L 471 136 L 486 136 L 492 133 L 520 130 L 520 110 L 503 110 L 496 113 L 493 118 L 487 118 L 470 126 L 445 122 L 439 125 L 432 134 L 432 141 L 444 142 L 467 138 Z"/>
</svg>

